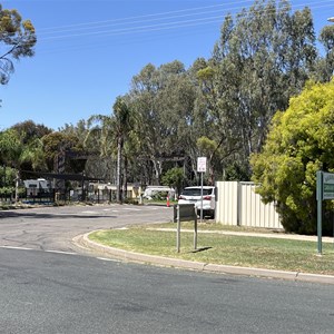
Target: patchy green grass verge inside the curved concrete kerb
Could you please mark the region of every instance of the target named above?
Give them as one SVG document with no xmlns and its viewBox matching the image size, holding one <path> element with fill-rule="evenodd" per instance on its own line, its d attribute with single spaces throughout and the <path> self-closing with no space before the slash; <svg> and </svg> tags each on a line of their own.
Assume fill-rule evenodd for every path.
<svg viewBox="0 0 334 334">
<path fill-rule="evenodd" d="M 190 226 L 193 225 L 183 225 L 188 232 L 181 232 L 180 253 L 176 252 L 176 232 L 160 229 L 175 228 L 175 224 L 99 230 L 90 234 L 89 238 L 106 246 L 150 255 L 210 264 L 334 275 L 332 243 L 324 244 L 323 256 L 317 256 L 315 242 L 200 233 L 200 230 L 224 229 L 222 225 L 207 224 L 198 227 L 197 248 L 205 250 L 194 252 L 194 234 Z"/>
</svg>

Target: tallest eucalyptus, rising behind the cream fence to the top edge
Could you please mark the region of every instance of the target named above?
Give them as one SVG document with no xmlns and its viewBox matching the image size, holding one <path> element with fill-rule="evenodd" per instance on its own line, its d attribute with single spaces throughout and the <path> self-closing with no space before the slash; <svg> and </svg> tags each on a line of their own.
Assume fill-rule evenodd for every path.
<svg viewBox="0 0 334 334">
<path fill-rule="evenodd" d="M 316 56 L 307 8 L 292 12 L 288 1 L 258 0 L 235 19 L 225 18 L 213 57 L 198 72 L 215 127 L 210 139 L 224 147 L 225 159 L 248 166 L 272 117 L 301 91 Z"/>
</svg>

